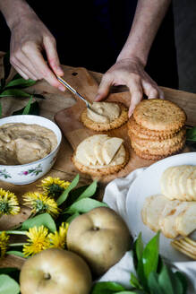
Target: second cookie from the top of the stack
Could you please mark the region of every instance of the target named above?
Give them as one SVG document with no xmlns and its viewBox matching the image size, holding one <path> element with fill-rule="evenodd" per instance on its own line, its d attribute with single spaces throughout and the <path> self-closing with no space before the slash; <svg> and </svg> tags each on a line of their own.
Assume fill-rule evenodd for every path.
<svg viewBox="0 0 196 294">
<path fill-rule="evenodd" d="M 134 134 L 135 136 L 146 139 L 146 140 L 164 140 L 167 138 L 171 138 L 173 135 L 176 134 L 176 131 L 154 131 L 149 130 L 147 128 L 142 127 L 141 125 L 137 124 L 134 117 L 132 116 L 128 123 L 128 132 L 130 134 Z"/>
</svg>

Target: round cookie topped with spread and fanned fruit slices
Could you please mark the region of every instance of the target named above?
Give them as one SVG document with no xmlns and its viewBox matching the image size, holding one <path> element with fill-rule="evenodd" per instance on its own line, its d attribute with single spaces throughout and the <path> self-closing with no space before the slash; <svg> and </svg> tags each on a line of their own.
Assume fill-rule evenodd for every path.
<svg viewBox="0 0 196 294">
<path fill-rule="evenodd" d="M 72 156 L 77 169 L 93 176 L 118 172 L 128 160 L 124 140 L 107 134 L 95 134 L 83 140 Z"/>
</svg>

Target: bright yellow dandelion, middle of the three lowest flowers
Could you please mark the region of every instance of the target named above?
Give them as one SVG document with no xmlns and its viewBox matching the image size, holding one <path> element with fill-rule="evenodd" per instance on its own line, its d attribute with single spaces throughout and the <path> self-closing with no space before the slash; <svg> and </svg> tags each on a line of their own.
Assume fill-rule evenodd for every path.
<svg viewBox="0 0 196 294">
<path fill-rule="evenodd" d="M 50 242 L 47 238 L 48 229 L 44 226 L 30 228 L 26 233 L 28 243 L 23 246 L 23 254 L 36 255 L 38 252 L 49 248 Z"/>
</svg>

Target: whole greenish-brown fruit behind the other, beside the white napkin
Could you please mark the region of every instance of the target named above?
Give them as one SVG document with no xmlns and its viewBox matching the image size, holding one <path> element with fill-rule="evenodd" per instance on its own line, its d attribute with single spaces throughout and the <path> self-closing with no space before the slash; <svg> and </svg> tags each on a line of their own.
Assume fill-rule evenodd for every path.
<svg viewBox="0 0 196 294">
<path fill-rule="evenodd" d="M 124 220 L 107 207 L 78 216 L 67 232 L 68 250 L 81 255 L 96 275 L 107 272 L 130 246 L 131 236 Z"/>
</svg>

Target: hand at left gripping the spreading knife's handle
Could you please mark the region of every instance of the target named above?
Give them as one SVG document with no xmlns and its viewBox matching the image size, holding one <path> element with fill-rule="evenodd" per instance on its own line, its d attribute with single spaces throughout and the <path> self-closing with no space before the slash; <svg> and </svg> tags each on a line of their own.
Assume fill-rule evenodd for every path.
<svg viewBox="0 0 196 294">
<path fill-rule="evenodd" d="M 16 71 L 25 80 L 45 79 L 52 86 L 64 91 L 64 86 L 55 77 L 55 74 L 64 74 L 57 55 L 55 38 L 38 16 L 34 13 L 24 15 L 13 24 L 11 33 L 10 62 Z M 47 54 L 47 61 L 42 55 L 43 51 Z"/>
</svg>

